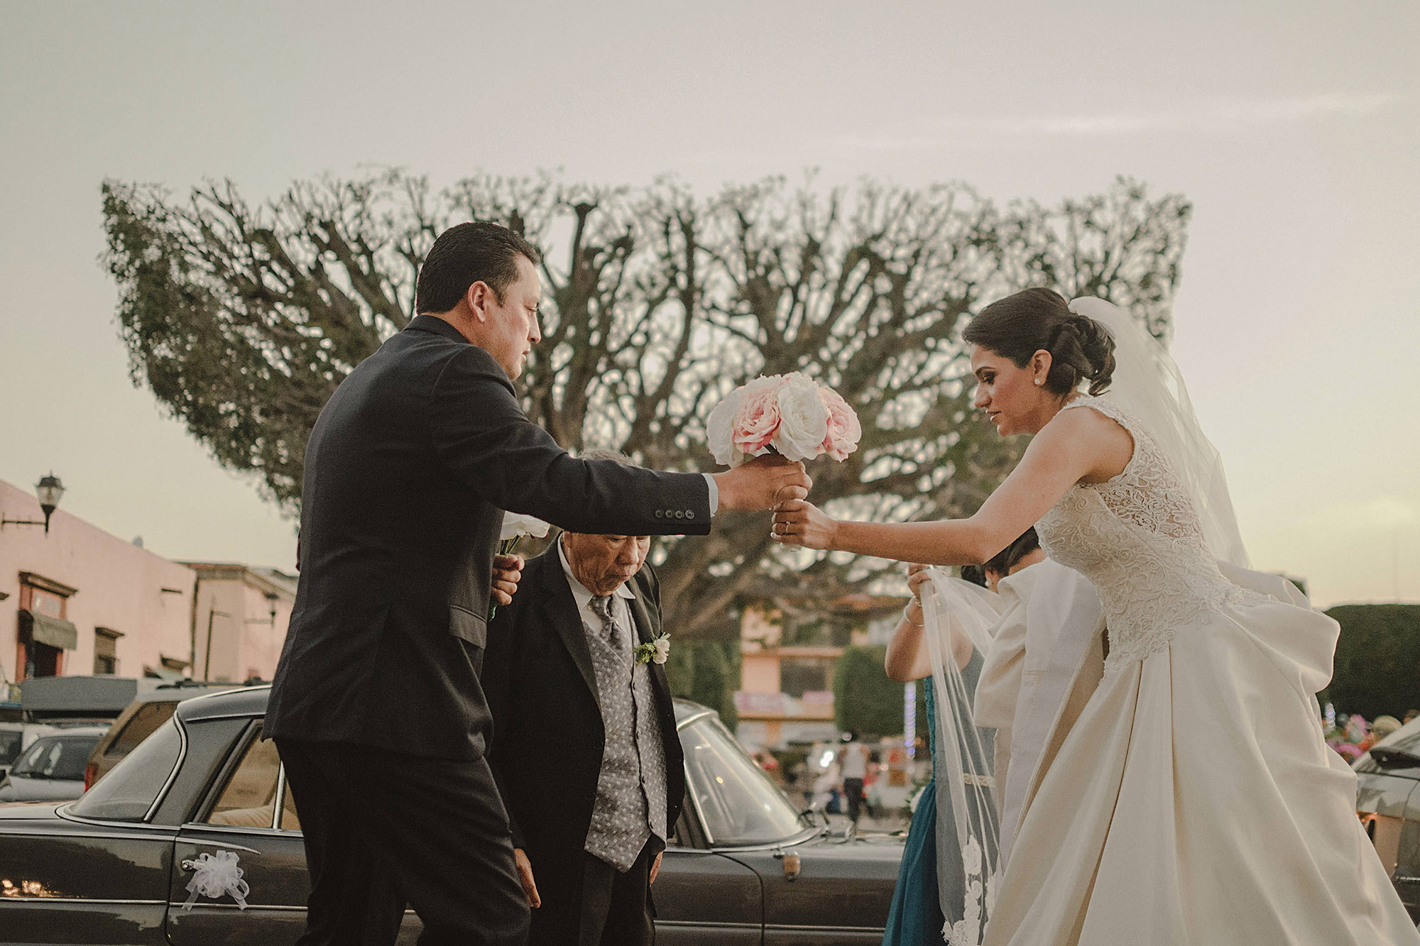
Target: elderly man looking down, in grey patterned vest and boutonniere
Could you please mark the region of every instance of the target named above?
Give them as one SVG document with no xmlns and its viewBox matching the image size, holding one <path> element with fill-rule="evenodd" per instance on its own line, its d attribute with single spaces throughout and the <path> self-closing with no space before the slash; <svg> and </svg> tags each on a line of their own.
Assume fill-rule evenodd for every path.
<svg viewBox="0 0 1420 946">
<path fill-rule="evenodd" d="M 655 940 L 650 885 L 686 785 L 653 656 L 662 628 L 649 548 L 646 535 L 562 533 L 527 562 L 521 591 L 488 628 L 488 763 L 534 908 L 530 943 Z"/>
</svg>

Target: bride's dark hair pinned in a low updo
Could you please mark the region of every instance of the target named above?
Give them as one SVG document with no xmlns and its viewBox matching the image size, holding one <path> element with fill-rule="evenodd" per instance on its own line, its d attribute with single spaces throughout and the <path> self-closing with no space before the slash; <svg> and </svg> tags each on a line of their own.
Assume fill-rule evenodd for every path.
<svg viewBox="0 0 1420 946">
<path fill-rule="evenodd" d="M 1115 339 L 1093 318 L 1069 311 L 1052 290 L 1028 288 L 997 300 L 967 322 L 961 338 L 1025 368 L 1038 351 L 1051 352 L 1045 391 L 1066 395 L 1082 381 L 1103 393 L 1115 374 Z"/>
</svg>

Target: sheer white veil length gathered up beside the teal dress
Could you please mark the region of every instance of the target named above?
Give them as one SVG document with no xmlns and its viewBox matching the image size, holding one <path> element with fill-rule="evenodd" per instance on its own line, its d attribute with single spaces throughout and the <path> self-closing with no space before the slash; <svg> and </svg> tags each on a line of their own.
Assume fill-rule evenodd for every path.
<svg viewBox="0 0 1420 946">
<path fill-rule="evenodd" d="M 971 716 L 974 682 L 968 687 L 953 656 L 953 638 L 970 641 L 983 656 L 1000 619 L 995 594 L 937 568 L 929 570 L 932 594 L 922 595 L 923 625 L 932 656 L 937 741 L 933 768 L 937 790 L 937 857 L 960 851 L 964 884 L 954 871 L 939 871 L 939 896 L 951 946 L 978 946 L 995 899 L 1000 861 L 1000 818 L 993 795 L 990 737 Z M 944 820 L 951 812 L 951 821 Z M 960 918 L 960 919 L 954 919 Z"/>
</svg>

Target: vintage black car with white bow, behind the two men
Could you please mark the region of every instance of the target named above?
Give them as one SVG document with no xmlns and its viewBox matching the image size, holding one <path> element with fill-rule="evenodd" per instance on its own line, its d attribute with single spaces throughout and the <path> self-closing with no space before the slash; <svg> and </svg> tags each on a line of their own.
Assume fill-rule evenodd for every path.
<svg viewBox="0 0 1420 946">
<path fill-rule="evenodd" d="M 0 940 L 294 942 L 310 886 L 298 812 L 260 740 L 267 692 L 182 703 L 78 801 L 0 807 Z M 829 832 L 711 710 L 677 700 L 676 722 L 689 797 L 655 886 L 657 942 L 879 942 L 900 838 Z M 237 857 L 244 909 L 187 891 L 219 851 Z M 410 912 L 400 942 L 417 933 Z"/>
</svg>

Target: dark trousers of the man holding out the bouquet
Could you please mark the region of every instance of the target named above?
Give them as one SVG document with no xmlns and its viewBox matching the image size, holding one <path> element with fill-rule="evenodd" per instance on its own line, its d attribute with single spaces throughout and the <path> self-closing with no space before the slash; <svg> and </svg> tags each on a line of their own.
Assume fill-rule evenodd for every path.
<svg viewBox="0 0 1420 946">
<path fill-rule="evenodd" d="M 488 763 L 277 739 L 311 875 L 297 946 L 527 942 L 528 906 Z"/>
</svg>

